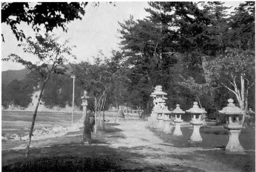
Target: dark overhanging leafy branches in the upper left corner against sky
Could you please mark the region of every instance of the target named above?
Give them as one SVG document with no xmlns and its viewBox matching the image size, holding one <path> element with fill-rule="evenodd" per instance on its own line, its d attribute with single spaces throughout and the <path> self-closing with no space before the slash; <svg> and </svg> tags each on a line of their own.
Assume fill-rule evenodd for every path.
<svg viewBox="0 0 256 172">
<path fill-rule="evenodd" d="M 24 31 L 18 29 L 20 23 L 26 23 L 36 32 L 40 25 L 44 25 L 46 32 L 53 28 L 61 27 L 63 31 L 68 30 L 66 24 L 74 19 L 81 19 L 85 11 L 83 6 L 88 3 L 64 3 L 64 2 L 43 2 L 43 3 L 2 3 L 2 23 L 11 27 L 17 40 L 26 38 Z M 3 34 L 2 34 L 3 36 Z M 3 37 L 4 40 L 4 37 Z"/>
</svg>

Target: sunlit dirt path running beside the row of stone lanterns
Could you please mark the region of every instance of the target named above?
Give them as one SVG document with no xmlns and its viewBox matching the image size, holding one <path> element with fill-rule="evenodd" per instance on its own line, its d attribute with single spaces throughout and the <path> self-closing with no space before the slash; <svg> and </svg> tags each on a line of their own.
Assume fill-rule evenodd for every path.
<svg viewBox="0 0 256 172">
<path fill-rule="evenodd" d="M 128 152 L 143 155 L 137 158 L 151 165 L 182 165 L 196 167 L 204 171 L 241 171 L 224 164 L 218 159 L 200 154 L 198 152 L 219 150 L 219 148 L 205 149 L 201 147 L 174 147 L 173 144 L 164 143 L 161 138 L 148 130 L 146 121 L 125 120 L 119 121 L 115 126 L 122 137 L 109 140 L 114 148 L 126 148 Z"/>
</svg>

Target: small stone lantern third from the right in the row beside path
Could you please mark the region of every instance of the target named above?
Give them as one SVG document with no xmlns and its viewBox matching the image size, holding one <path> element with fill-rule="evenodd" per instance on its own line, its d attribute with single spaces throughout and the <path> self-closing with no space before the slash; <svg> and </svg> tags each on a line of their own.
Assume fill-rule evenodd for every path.
<svg viewBox="0 0 256 172">
<path fill-rule="evenodd" d="M 185 111 L 182 111 L 180 109 L 180 105 L 177 104 L 176 105 L 176 109 L 172 111 L 173 114 L 175 114 L 175 130 L 174 130 L 174 136 L 182 136 L 182 132 L 180 130 L 180 124 L 181 122 L 183 122 L 183 120 L 181 119 L 181 115 L 185 114 Z"/>
</svg>

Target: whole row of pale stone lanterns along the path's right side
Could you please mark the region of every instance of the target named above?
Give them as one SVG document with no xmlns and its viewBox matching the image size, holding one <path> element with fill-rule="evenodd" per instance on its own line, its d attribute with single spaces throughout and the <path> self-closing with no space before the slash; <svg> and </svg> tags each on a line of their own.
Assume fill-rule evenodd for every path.
<svg viewBox="0 0 256 172">
<path fill-rule="evenodd" d="M 148 122 L 151 126 L 157 128 L 162 128 L 163 132 L 170 132 L 172 127 L 170 125 L 170 114 L 174 114 L 175 122 L 175 131 L 173 135 L 182 136 L 180 125 L 183 122 L 181 115 L 185 114 L 185 111 L 180 109 L 179 104 L 177 104 L 174 111 L 168 111 L 165 100 L 167 100 L 164 95 L 167 95 L 162 91 L 161 85 L 158 85 L 155 88 L 155 91 L 151 94 L 153 97 L 154 108 L 150 117 L 148 117 Z M 193 103 L 193 107 L 189 110 L 186 110 L 186 113 L 191 114 L 190 124 L 193 125 L 193 134 L 190 137 L 190 142 L 202 142 L 203 139 L 200 135 L 200 127 L 203 125 L 204 121 L 202 120 L 202 115 L 205 115 L 207 112 L 204 109 L 200 109 L 197 102 Z M 229 141 L 225 148 L 228 153 L 243 153 L 244 149 L 239 142 L 239 135 L 241 133 L 242 124 L 241 116 L 244 111 L 239 107 L 236 107 L 233 104 L 233 100 L 228 100 L 227 107 L 224 107 L 223 110 L 219 111 L 220 114 L 226 115 L 226 128 L 229 132 Z"/>
</svg>

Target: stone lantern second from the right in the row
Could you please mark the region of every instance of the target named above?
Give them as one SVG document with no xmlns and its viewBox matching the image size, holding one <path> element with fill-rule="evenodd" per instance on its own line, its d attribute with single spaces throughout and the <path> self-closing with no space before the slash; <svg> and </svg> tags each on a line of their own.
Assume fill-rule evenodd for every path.
<svg viewBox="0 0 256 172">
<path fill-rule="evenodd" d="M 207 112 L 200 109 L 197 102 L 193 103 L 193 107 L 189 110 L 186 110 L 187 113 L 191 114 L 190 123 L 193 125 L 193 133 L 190 137 L 191 142 L 202 142 L 203 139 L 200 135 L 200 126 L 203 125 L 203 121 L 201 120 L 202 114 L 206 114 Z"/>
</svg>

